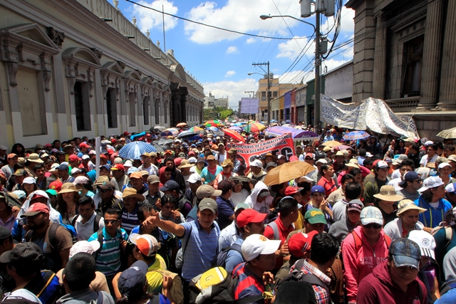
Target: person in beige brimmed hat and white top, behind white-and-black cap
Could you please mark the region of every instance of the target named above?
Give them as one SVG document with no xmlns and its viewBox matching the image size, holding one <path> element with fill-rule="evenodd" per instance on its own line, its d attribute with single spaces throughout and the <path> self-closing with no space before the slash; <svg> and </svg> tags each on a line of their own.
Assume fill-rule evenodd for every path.
<svg viewBox="0 0 456 304">
<path fill-rule="evenodd" d="M 403 199 L 398 204 L 398 218 L 390 221 L 385 226 L 385 234 L 387 234 L 393 241 L 399 238 L 406 238 L 410 231 L 423 230 L 424 225 L 418 221 L 418 216 L 426 209 L 420 208 L 415 205 L 410 199 Z"/>
</svg>

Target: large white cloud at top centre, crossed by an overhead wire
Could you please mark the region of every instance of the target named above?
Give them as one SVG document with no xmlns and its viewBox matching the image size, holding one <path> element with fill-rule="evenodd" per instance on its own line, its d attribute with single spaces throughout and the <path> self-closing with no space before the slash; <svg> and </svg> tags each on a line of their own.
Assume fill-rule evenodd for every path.
<svg viewBox="0 0 456 304">
<path fill-rule="evenodd" d="M 286 23 L 293 26 L 299 21 L 293 19 L 284 20 L 273 18 L 269 20 L 259 19 L 261 14 L 291 15 L 299 17 L 299 3 L 291 5 L 289 1 L 264 0 L 228 0 L 227 4 L 218 7 L 214 1 L 206 1 L 192 8 L 186 17 L 201 23 L 227 28 L 243 33 L 259 33 L 267 36 L 289 35 Z M 207 44 L 224 40 L 234 40 L 240 37 L 237 33 L 221 31 L 217 28 L 209 28 L 196 23 L 185 23 L 185 33 L 195 43 Z M 247 43 L 252 43 L 251 38 Z"/>
</svg>

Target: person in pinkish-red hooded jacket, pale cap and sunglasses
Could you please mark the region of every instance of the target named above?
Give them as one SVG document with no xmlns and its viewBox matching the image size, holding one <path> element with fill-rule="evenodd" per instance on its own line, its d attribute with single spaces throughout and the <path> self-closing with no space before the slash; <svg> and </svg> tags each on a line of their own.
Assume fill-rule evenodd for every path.
<svg viewBox="0 0 456 304">
<path fill-rule="evenodd" d="M 361 226 L 347 235 L 342 243 L 348 303 L 356 302 L 358 284 L 372 273 L 375 266 L 388 258 L 391 239 L 383 231 L 383 216 L 374 206 L 361 211 Z"/>
</svg>

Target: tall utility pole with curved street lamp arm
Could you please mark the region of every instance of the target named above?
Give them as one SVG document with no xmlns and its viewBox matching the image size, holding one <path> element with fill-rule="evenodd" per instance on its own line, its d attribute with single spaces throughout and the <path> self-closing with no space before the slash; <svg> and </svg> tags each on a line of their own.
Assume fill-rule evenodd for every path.
<svg viewBox="0 0 456 304">
<path fill-rule="evenodd" d="M 306 1 L 309 2 L 309 1 Z M 303 3 L 301 2 L 301 6 Z M 309 11 L 310 11 L 310 2 L 309 2 Z M 321 60 L 320 60 L 320 12 L 319 11 L 314 11 L 315 14 L 315 23 L 314 24 L 309 23 L 307 21 L 297 19 L 294 16 L 270 16 L 270 15 L 261 15 L 259 18 L 262 20 L 270 19 L 270 18 L 276 18 L 276 17 L 287 17 L 291 18 L 297 21 L 301 21 L 302 23 L 309 24 L 314 28 L 315 32 L 315 103 L 314 103 L 314 129 L 318 130 L 321 128 L 320 126 L 320 65 L 321 65 Z M 304 16 L 304 15 L 303 15 Z M 307 15 L 306 15 L 307 16 Z M 309 15 L 310 16 L 310 15 Z"/>
</svg>

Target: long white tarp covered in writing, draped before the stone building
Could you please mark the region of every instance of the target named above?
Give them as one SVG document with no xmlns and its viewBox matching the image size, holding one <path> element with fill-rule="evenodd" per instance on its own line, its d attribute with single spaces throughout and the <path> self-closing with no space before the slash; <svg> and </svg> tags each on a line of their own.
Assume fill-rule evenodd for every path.
<svg viewBox="0 0 456 304">
<path fill-rule="evenodd" d="M 381 99 L 368 98 L 356 105 L 321 95 L 321 120 L 352 130 L 370 129 L 380 134 L 420 138 L 413 118 L 395 115 Z"/>
</svg>

